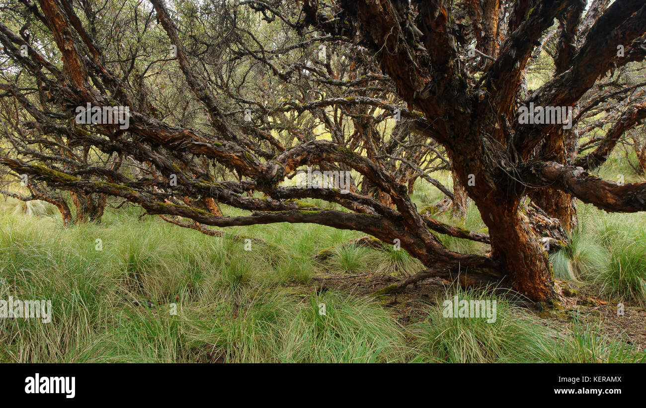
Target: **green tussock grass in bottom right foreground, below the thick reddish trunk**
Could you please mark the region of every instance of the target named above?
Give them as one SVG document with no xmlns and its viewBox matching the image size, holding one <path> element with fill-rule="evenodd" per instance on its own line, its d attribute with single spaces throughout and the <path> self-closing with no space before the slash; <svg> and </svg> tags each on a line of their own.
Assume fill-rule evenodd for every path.
<svg viewBox="0 0 646 408">
<path fill-rule="evenodd" d="M 446 318 L 444 300 L 495 300 L 496 319 Z M 446 292 L 426 310 L 426 320 L 408 327 L 414 362 L 448 363 L 632 363 L 644 352 L 596 334 L 578 321 L 554 325 L 516 307 L 514 296 L 493 290 Z"/>
</svg>

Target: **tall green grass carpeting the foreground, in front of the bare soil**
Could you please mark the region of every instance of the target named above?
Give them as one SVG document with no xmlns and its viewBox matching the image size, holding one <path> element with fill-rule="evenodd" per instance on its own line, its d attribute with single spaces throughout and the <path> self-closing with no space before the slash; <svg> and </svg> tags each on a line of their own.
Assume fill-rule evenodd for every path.
<svg viewBox="0 0 646 408">
<path fill-rule="evenodd" d="M 255 241 L 246 251 L 231 235 L 212 238 L 139 219 L 136 210 L 69 229 L 54 218 L 5 214 L 0 299 L 52 300 L 53 320 L 0 320 L 0 361 L 619 362 L 642 356 L 586 327 L 557 331 L 488 292 L 458 295 L 497 296 L 495 323 L 443 318 L 438 302 L 421 305 L 421 321 L 402 326 L 396 309 L 377 299 L 317 292 L 308 281 L 334 262 L 343 265 L 339 272 L 370 265 L 386 273 L 415 261 L 403 251 L 357 255 L 342 246 L 358 233 L 299 227 L 234 229 L 271 244 Z M 344 248 L 338 254 L 345 260 L 312 261 L 331 244 Z"/>
</svg>

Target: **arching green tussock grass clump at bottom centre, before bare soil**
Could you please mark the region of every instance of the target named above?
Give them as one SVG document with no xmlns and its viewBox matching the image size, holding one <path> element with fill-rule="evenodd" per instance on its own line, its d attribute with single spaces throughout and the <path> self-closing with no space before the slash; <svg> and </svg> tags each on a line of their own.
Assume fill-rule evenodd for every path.
<svg viewBox="0 0 646 408">
<path fill-rule="evenodd" d="M 401 328 L 366 298 L 282 290 L 251 297 L 229 318 L 222 306 L 209 308 L 223 313 L 215 321 L 190 318 L 186 327 L 193 349 L 225 362 L 401 362 L 406 355 Z"/>
</svg>

